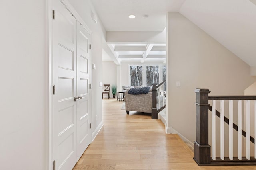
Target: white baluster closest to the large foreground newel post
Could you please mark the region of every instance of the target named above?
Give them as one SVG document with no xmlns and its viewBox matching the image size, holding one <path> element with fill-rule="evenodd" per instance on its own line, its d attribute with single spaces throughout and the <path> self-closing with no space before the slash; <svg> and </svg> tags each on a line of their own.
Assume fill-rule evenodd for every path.
<svg viewBox="0 0 256 170">
<path fill-rule="evenodd" d="M 216 100 L 212 101 L 212 160 L 216 160 Z"/>
</svg>

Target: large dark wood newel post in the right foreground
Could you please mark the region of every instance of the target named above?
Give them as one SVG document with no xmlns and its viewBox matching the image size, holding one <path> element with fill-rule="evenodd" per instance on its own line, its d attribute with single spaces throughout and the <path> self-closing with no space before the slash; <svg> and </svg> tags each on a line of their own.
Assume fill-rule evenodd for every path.
<svg viewBox="0 0 256 170">
<path fill-rule="evenodd" d="M 196 141 L 194 160 L 198 165 L 211 163 L 211 146 L 208 144 L 208 94 L 209 89 L 196 89 Z"/>
</svg>

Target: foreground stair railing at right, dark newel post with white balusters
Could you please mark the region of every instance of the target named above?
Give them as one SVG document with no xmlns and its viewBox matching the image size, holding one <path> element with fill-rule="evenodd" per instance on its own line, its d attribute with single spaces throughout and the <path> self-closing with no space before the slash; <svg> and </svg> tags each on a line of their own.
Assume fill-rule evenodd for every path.
<svg viewBox="0 0 256 170">
<path fill-rule="evenodd" d="M 250 142 L 251 143 L 255 143 L 255 139 L 250 136 L 248 134 L 246 134 L 246 132 L 244 130 L 241 130 L 242 124 L 241 124 L 241 120 L 242 118 L 238 118 L 240 119 L 240 124 L 238 123 L 238 125 L 234 124 L 233 121 L 229 120 L 227 117 L 224 117 L 224 100 L 230 100 L 229 102 L 229 107 L 232 108 L 232 104 L 233 104 L 233 100 L 238 100 L 239 103 L 239 113 L 238 113 L 238 117 L 240 117 L 240 115 L 242 114 L 242 100 L 245 100 L 245 104 L 246 104 L 246 110 L 245 110 L 245 119 L 246 119 L 246 129 L 248 128 L 250 131 L 250 124 L 247 123 L 247 121 L 250 121 L 250 101 L 254 100 L 254 106 L 256 109 L 256 96 L 208 96 L 208 94 L 210 93 L 209 89 L 196 89 L 196 141 L 194 141 L 194 160 L 196 161 L 196 163 L 199 166 L 222 166 L 222 165 L 256 165 L 256 151 L 255 151 L 255 155 L 254 157 L 250 156 Z M 212 110 L 212 106 L 210 106 L 208 100 L 213 100 L 213 107 L 215 108 L 215 100 L 220 100 L 220 108 L 221 108 L 221 114 L 219 111 L 217 111 L 215 109 L 215 115 L 220 117 L 220 126 L 222 126 L 224 128 L 224 122 L 229 124 L 229 134 L 230 131 L 232 133 L 232 129 L 235 129 L 236 131 L 238 131 L 238 129 L 240 129 L 240 133 L 238 133 L 238 136 L 244 136 L 246 137 L 246 157 L 242 157 L 241 154 L 241 150 L 242 150 L 242 139 L 240 137 L 240 145 L 239 148 L 241 150 L 239 150 L 239 157 L 233 157 L 233 155 L 230 157 L 224 157 L 224 147 L 222 148 L 220 146 L 220 155 L 221 157 L 216 157 L 215 153 L 213 152 L 211 157 L 211 146 L 209 145 L 209 141 L 208 141 L 208 135 L 209 135 L 209 123 L 208 123 L 208 110 L 210 111 L 214 111 Z M 233 113 L 233 109 L 230 113 Z M 231 114 L 232 115 L 232 114 Z M 255 111 L 255 115 L 256 115 L 256 111 Z M 213 115 L 212 115 L 213 116 Z M 233 117 L 233 116 L 232 116 Z M 212 117 L 212 119 L 215 120 L 214 116 Z M 231 118 L 230 118 L 231 119 Z M 214 121 L 215 122 L 215 121 Z M 230 125 L 230 122 L 232 122 L 232 124 Z M 239 121 L 238 121 L 239 122 Z M 215 123 L 214 123 L 215 124 Z M 214 125 L 212 124 L 212 125 Z M 215 125 L 214 125 L 215 127 Z M 213 129 L 213 127 L 212 127 Z M 224 129 L 220 129 L 220 139 L 221 140 L 221 145 L 224 145 L 224 135 L 222 136 L 221 133 L 224 131 Z M 215 134 L 216 131 L 214 130 L 214 133 L 212 132 L 212 134 Z M 222 133 L 224 134 L 224 133 Z M 214 136 L 215 139 L 215 136 Z M 216 139 L 215 139 L 216 140 Z M 233 141 L 233 140 L 232 140 Z M 212 145 L 213 143 L 216 143 L 216 141 L 212 141 Z M 215 145 L 215 144 L 214 144 Z M 230 145 L 230 143 L 229 143 Z M 256 146 L 255 146 L 256 147 Z M 232 148 L 232 147 L 231 147 Z M 215 148 L 216 149 L 216 148 Z M 214 150 L 214 149 L 213 149 Z M 230 149 L 229 149 L 230 150 Z M 233 153 L 233 152 L 230 152 Z M 230 155 L 230 154 L 229 154 Z"/>
</svg>

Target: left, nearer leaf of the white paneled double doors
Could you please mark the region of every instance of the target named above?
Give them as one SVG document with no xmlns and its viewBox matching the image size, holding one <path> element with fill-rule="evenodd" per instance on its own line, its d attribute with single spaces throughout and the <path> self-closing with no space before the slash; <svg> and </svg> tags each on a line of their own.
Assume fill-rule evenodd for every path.
<svg viewBox="0 0 256 170">
<path fill-rule="evenodd" d="M 56 170 L 72 170 L 77 162 L 76 19 L 53 0 L 53 158 Z"/>
</svg>

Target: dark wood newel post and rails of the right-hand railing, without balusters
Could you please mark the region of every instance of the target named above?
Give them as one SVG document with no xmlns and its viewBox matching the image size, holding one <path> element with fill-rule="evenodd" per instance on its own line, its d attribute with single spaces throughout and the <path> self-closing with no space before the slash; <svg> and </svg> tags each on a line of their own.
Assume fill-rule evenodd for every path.
<svg viewBox="0 0 256 170">
<path fill-rule="evenodd" d="M 256 159 L 241 160 L 241 158 L 223 158 L 224 149 L 222 152 L 222 160 L 211 160 L 211 146 L 209 145 L 209 110 L 212 111 L 212 106 L 209 104 L 209 100 L 256 100 L 256 96 L 209 96 L 211 92 L 209 89 L 196 89 L 196 141 L 194 141 L 194 160 L 199 166 L 215 166 L 215 165 L 255 165 Z M 216 110 L 216 109 L 215 109 Z M 216 110 L 215 113 L 218 117 L 221 117 L 220 112 Z M 213 115 L 215 116 L 215 115 Z M 222 115 L 223 116 L 223 115 Z M 224 121 L 229 124 L 230 120 L 224 116 Z M 233 123 L 233 122 L 232 122 Z M 231 125 L 231 124 L 230 124 Z M 233 123 L 233 129 L 238 131 L 238 126 Z M 242 129 L 241 129 L 242 130 Z M 246 132 L 242 130 L 242 135 L 246 137 Z M 247 133 L 248 135 L 248 133 Z M 250 136 L 250 141 L 255 143 L 255 139 Z M 241 146 L 241 144 L 240 144 Z M 215 148 L 214 148 L 215 149 Z M 249 153 L 247 150 L 246 152 Z M 232 154 L 232 153 L 231 153 Z M 215 154 L 213 155 L 215 158 Z"/>
</svg>

